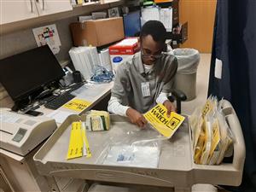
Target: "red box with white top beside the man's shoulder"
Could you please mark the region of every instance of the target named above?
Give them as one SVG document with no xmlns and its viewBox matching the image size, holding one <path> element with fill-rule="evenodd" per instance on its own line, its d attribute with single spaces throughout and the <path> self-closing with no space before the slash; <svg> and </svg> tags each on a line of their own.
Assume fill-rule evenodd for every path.
<svg viewBox="0 0 256 192">
<path fill-rule="evenodd" d="M 125 38 L 108 48 L 109 55 L 133 55 L 138 50 L 137 38 Z"/>
</svg>

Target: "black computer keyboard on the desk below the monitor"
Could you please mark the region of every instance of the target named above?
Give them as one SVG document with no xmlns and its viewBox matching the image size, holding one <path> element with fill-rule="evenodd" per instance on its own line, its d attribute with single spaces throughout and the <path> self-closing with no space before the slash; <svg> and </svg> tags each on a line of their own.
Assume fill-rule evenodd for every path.
<svg viewBox="0 0 256 192">
<path fill-rule="evenodd" d="M 69 92 L 63 93 L 61 96 L 55 97 L 53 100 L 47 102 L 44 104 L 45 108 L 50 108 L 50 109 L 57 109 L 61 108 L 62 105 L 64 105 L 66 102 L 69 102 L 72 100 L 75 96 L 70 94 Z"/>
</svg>

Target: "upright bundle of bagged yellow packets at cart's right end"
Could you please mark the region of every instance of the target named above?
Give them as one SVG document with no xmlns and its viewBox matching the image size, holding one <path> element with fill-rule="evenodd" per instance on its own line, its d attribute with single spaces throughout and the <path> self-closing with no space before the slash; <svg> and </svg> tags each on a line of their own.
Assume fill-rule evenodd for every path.
<svg viewBox="0 0 256 192">
<path fill-rule="evenodd" d="M 217 98 L 210 96 L 205 106 L 190 116 L 194 161 L 196 164 L 218 165 L 232 143 L 232 132 L 219 108 Z"/>
</svg>

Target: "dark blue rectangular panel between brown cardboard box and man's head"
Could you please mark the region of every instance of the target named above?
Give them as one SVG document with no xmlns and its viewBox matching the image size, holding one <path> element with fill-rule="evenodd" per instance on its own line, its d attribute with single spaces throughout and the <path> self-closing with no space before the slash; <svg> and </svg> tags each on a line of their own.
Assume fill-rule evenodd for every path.
<svg viewBox="0 0 256 192">
<path fill-rule="evenodd" d="M 141 32 L 141 11 L 133 11 L 124 15 L 125 37 L 134 37 Z"/>
</svg>

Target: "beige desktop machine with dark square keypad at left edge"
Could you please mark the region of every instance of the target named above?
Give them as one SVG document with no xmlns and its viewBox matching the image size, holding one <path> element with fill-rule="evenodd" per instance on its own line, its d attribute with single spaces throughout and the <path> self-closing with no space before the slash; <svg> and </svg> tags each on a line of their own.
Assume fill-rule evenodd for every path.
<svg viewBox="0 0 256 192">
<path fill-rule="evenodd" d="M 55 119 L 0 108 L 0 148 L 25 156 L 57 128 Z"/>
</svg>

